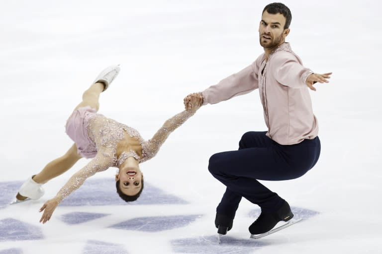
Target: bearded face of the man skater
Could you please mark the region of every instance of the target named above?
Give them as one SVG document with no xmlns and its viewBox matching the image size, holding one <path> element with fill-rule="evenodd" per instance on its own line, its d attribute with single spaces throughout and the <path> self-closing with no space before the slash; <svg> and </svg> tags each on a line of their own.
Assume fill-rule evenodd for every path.
<svg viewBox="0 0 382 254">
<path fill-rule="evenodd" d="M 260 45 L 265 49 L 279 46 L 284 41 L 289 29 L 284 29 L 286 18 L 283 14 L 270 14 L 264 11 L 260 21 Z"/>
</svg>

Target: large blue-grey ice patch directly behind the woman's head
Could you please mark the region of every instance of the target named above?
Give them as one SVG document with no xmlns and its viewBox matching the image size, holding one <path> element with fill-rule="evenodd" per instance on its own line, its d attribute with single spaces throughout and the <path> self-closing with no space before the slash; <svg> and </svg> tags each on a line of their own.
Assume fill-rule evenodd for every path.
<svg viewBox="0 0 382 254">
<path fill-rule="evenodd" d="M 141 196 L 134 202 L 126 203 L 116 193 L 115 181 L 113 179 L 89 179 L 80 189 L 64 199 L 60 206 L 187 203 L 184 199 L 167 194 L 146 182 Z"/>
</svg>

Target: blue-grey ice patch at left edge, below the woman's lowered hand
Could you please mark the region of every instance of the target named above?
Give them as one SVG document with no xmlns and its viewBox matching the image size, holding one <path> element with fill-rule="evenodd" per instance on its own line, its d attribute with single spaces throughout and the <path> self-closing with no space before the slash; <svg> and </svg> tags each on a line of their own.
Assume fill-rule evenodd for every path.
<svg viewBox="0 0 382 254">
<path fill-rule="evenodd" d="M 11 218 L 0 220 L 0 242 L 43 238 L 41 230 L 36 226 Z"/>
</svg>

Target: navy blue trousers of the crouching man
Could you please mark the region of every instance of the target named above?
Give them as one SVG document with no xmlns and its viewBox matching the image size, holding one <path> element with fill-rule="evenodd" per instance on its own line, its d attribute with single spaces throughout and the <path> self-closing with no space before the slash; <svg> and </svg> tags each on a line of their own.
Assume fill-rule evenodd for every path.
<svg viewBox="0 0 382 254">
<path fill-rule="evenodd" d="M 218 213 L 233 219 L 241 197 L 259 205 L 262 212 L 274 213 L 284 199 L 257 180 L 295 179 L 316 164 L 321 150 L 318 136 L 294 145 L 281 145 L 266 133 L 246 132 L 239 150 L 216 153 L 209 159 L 209 172 L 227 187 L 216 208 Z"/>
</svg>

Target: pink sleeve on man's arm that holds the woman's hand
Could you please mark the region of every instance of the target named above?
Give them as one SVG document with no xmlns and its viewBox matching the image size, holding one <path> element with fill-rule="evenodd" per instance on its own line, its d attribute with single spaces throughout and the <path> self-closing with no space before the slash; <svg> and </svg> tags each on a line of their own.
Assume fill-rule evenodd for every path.
<svg viewBox="0 0 382 254">
<path fill-rule="evenodd" d="M 205 89 L 203 105 L 226 101 L 259 88 L 258 72 L 260 57 L 241 71 L 224 78 L 218 84 Z"/>
</svg>

